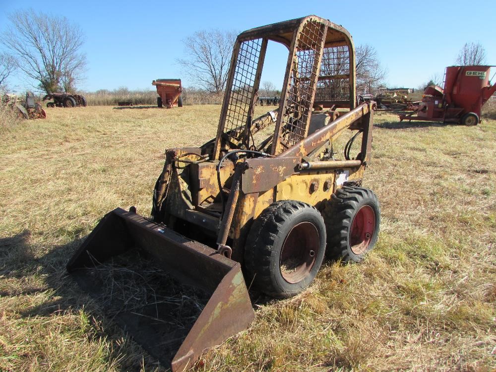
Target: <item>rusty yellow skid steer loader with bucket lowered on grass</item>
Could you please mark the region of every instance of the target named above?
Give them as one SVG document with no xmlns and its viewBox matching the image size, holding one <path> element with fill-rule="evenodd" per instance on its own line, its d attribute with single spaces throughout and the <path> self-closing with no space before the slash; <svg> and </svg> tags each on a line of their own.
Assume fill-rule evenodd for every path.
<svg viewBox="0 0 496 372">
<path fill-rule="evenodd" d="M 281 101 L 254 118 L 265 52 L 274 42 L 289 54 Z M 170 358 L 173 371 L 192 366 L 206 348 L 248 327 L 248 288 L 294 296 L 310 285 L 324 253 L 359 261 L 375 244 L 379 203 L 360 187 L 373 113 L 371 102 L 357 107 L 355 99 L 355 51 L 343 27 L 312 15 L 241 33 L 216 137 L 198 148 L 166 150 L 152 217 L 134 207 L 108 213 L 68 271 L 91 272 L 136 248 L 185 291 L 202 291 L 207 303 L 190 327 L 181 325 L 183 333 L 158 331 L 151 318 L 167 315 L 159 310 L 133 324 L 128 314 L 115 317 L 138 330 L 135 339 L 151 354 Z M 343 133 L 350 139 L 337 154 Z M 171 351 L 173 344 L 179 350 Z"/>
</svg>

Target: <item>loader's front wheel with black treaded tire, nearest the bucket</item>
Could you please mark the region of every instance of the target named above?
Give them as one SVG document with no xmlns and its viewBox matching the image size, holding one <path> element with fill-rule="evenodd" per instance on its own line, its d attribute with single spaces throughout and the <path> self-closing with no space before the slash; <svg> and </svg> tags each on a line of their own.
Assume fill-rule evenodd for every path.
<svg viewBox="0 0 496 372">
<path fill-rule="evenodd" d="M 281 256 L 289 236 L 292 238 L 286 255 L 290 248 L 296 248 L 300 250 L 300 257 L 286 257 L 284 261 L 295 268 L 283 274 Z M 298 245 L 291 245 L 291 241 Z M 275 298 L 295 296 L 317 275 L 324 252 L 325 224 L 317 209 L 295 200 L 272 203 L 256 218 L 248 233 L 245 248 L 247 283 Z M 290 282 L 284 275 L 295 277 L 289 278 Z"/>
</svg>

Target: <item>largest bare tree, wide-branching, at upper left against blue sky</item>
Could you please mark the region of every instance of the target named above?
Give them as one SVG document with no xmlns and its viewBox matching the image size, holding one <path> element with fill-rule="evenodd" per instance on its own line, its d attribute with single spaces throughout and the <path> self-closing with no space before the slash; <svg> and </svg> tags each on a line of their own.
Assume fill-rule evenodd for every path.
<svg viewBox="0 0 496 372">
<path fill-rule="evenodd" d="M 83 32 L 66 17 L 32 9 L 9 15 L 11 22 L 0 41 L 16 57 L 19 69 L 47 93 L 75 89 L 86 67 L 80 53 Z"/>
</svg>

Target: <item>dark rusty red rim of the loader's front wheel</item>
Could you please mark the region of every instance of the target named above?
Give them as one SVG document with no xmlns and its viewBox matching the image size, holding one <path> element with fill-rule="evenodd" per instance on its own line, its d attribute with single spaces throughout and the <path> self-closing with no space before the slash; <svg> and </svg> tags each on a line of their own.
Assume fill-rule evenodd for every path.
<svg viewBox="0 0 496 372">
<path fill-rule="evenodd" d="M 284 240 L 279 268 L 288 283 L 302 281 L 310 274 L 320 248 L 320 237 L 315 225 L 301 222 L 294 226 Z"/>
</svg>

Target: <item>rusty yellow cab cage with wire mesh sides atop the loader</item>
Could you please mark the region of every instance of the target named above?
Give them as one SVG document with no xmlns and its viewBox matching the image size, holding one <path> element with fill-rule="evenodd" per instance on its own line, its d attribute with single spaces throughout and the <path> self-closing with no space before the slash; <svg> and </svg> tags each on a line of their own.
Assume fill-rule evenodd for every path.
<svg viewBox="0 0 496 372">
<path fill-rule="evenodd" d="M 267 42 L 288 48 L 282 96 L 271 142 L 271 154 L 303 140 L 313 106 L 354 108 L 355 54 L 351 35 L 342 26 L 311 15 L 257 27 L 236 41 L 225 92 L 213 159 L 222 151 L 248 149 Z M 251 139 L 250 139 L 251 138 Z"/>
</svg>

